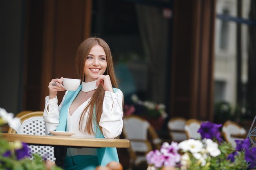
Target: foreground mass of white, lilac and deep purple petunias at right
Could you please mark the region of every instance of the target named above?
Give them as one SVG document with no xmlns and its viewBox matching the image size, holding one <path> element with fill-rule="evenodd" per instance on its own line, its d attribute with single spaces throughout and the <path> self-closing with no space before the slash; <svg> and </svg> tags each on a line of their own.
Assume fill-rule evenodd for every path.
<svg viewBox="0 0 256 170">
<path fill-rule="evenodd" d="M 236 148 L 222 141 L 221 124 L 202 123 L 198 132 L 202 139 L 188 139 L 177 144 L 164 143 L 161 150 L 148 152 L 146 159 L 152 167 L 172 166 L 177 170 L 245 170 L 256 166 L 256 148 L 249 150 L 250 141 L 236 140 Z"/>
</svg>

